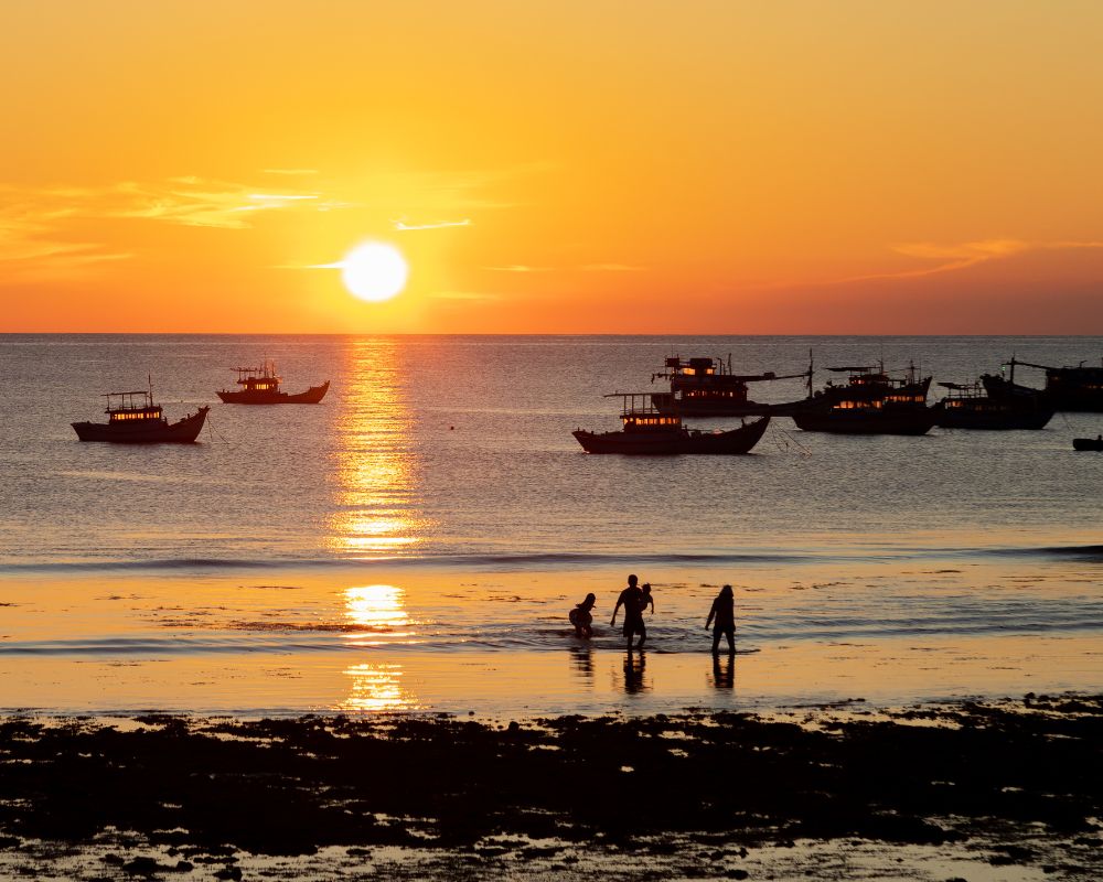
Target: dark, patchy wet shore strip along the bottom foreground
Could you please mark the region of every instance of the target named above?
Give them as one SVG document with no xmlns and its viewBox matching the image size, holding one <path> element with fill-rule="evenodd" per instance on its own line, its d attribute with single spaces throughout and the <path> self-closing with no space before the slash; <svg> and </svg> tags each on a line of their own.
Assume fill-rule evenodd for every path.
<svg viewBox="0 0 1103 882">
<path fill-rule="evenodd" d="M 1103 697 L 0 722 L 0 875 L 1097 879 Z"/>
</svg>

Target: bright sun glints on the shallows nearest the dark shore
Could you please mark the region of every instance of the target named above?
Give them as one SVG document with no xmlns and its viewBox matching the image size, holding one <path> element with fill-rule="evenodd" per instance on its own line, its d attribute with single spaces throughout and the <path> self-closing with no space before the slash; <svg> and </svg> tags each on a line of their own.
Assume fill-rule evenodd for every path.
<svg viewBox="0 0 1103 882">
<path fill-rule="evenodd" d="M 414 636 L 406 611 L 406 592 L 395 585 L 361 585 L 345 590 L 345 619 L 356 628 L 355 646 L 381 646 Z M 403 685 L 398 662 L 365 662 L 351 665 L 349 697 L 338 706 L 343 711 L 386 712 L 419 708 L 416 696 Z"/>
</svg>

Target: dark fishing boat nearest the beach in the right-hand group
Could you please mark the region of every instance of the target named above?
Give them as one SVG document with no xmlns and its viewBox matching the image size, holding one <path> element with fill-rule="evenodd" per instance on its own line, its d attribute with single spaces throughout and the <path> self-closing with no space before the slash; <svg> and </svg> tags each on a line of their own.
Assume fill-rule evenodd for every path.
<svg viewBox="0 0 1103 882">
<path fill-rule="evenodd" d="M 622 398 L 621 422 L 614 432 L 572 432 L 587 453 L 628 453 L 665 455 L 678 453 L 749 453 L 767 426 L 770 415 L 743 422 L 728 431 L 687 429 L 678 413 L 664 413 L 651 402 L 647 392 L 613 392 L 606 398 Z"/>
</svg>

